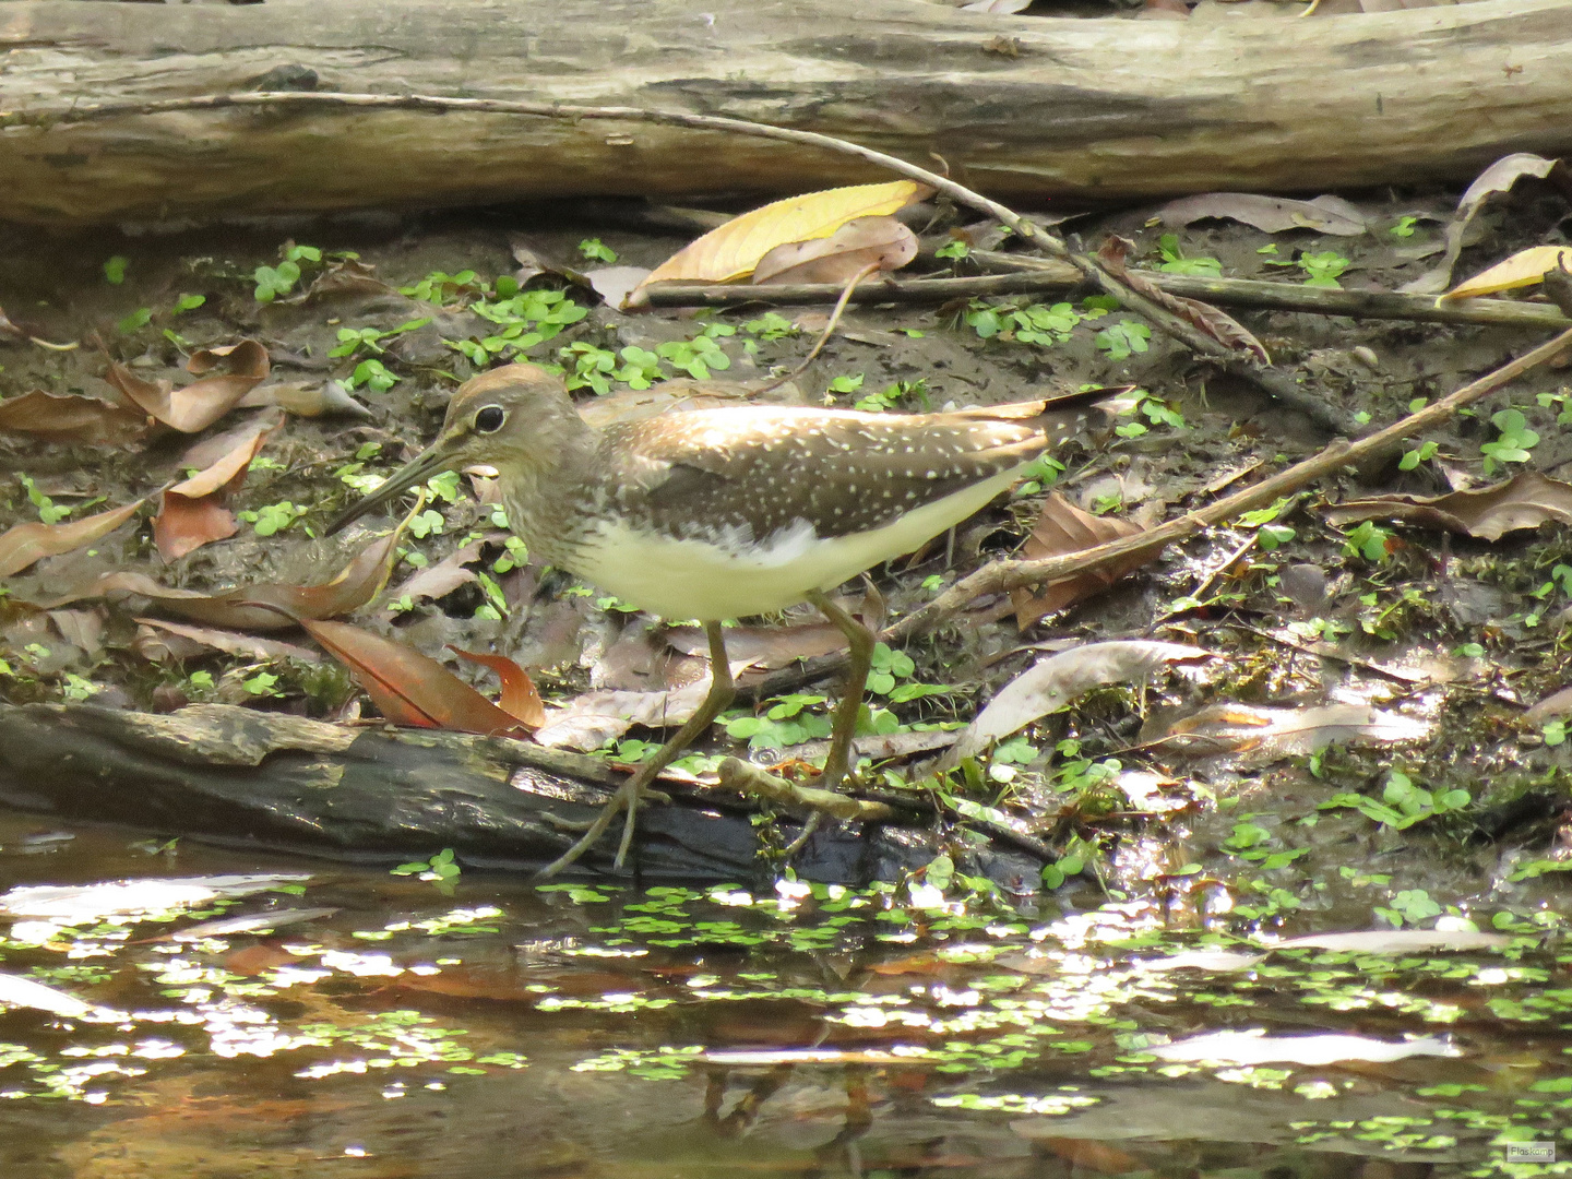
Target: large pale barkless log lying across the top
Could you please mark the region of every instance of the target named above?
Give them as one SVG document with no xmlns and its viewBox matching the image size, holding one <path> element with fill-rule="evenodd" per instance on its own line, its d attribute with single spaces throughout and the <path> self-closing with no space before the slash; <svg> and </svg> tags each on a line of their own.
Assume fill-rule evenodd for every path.
<svg viewBox="0 0 1572 1179">
<path fill-rule="evenodd" d="M 1204 27 L 915 0 L 13 0 L 0 50 L 0 217 L 41 225 L 877 176 L 814 148 L 512 115 L 31 121 L 311 85 L 740 116 L 938 154 L 1008 200 L 1464 179 L 1509 151 L 1572 151 L 1566 0 Z"/>
</svg>

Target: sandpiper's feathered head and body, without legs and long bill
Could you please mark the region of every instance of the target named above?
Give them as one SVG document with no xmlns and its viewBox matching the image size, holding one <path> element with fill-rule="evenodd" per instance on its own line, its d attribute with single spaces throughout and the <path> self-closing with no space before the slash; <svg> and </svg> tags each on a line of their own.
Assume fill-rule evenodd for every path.
<svg viewBox="0 0 1572 1179">
<path fill-rule="evenodd" d="M 1077 417 L 1078 404 L 1055 412 L 1044 402 L 951 413 L 742 406 L 597 431 L 578 417 L 555 376 L 509 365 L 454 395 L 428 454 L 432 461 L 440 454 L 448 465 L 497 467 L 509 523 L 539 556 L 640 604 L 640 571 L 610 569 L 618 560 L 635 561 L 634 549 L 704 545 L 667 545 L 703 558 L 693 566 L 695 582 L 758 574 L 761 566 L 781 569 L 789 580 L 794 561 L 813 564 L 814 545 L 849 552 L 830 563 L 833 572 L 847 560 L 855 563 L 858 538 L 951 497 L 959 503 L 968 489 L 1045 451 Z M 970 511 L 975 506 L 959 505 L 956 519 Z M 927 536 L 956 519 L 937 519 Z M 610 552 L 613 544 L 629 555 Z M 899 552 L 874 555 L 843 575 Z M 670 569 L 649 577 L 681 580 L 682 566 L 671 560 Z M 797 586 L 810 588 L 819 586 Z M 673 613 L 679 591 L 670 586 L 654 594 L 665 602 L 660 613 Z M 759 596 L 777 594 L 772 586 Z M 643 597 L 654 608 L 649 601 Z M 745 601 L 742 593 L 737 604 Z M 761 601 L 748 613 L 770 608 L 778 607 Z"/>
</svg>

